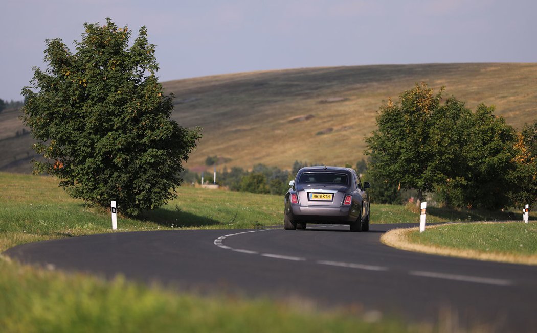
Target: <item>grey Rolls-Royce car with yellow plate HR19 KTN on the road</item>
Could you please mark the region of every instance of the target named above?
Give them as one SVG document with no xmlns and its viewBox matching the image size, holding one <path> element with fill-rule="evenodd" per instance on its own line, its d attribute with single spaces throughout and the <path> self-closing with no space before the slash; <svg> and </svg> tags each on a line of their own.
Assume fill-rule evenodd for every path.
<svg viewBox="0 0 537 333">
<path fill-rule="evenodd" d="M 285 194 L 285 230 L 306 229 L 308 223 L 349 224 L 351 231 L 369 230 L 371 185 L 362 184 L 351 168 L 301 168 Z"/>
</svg>

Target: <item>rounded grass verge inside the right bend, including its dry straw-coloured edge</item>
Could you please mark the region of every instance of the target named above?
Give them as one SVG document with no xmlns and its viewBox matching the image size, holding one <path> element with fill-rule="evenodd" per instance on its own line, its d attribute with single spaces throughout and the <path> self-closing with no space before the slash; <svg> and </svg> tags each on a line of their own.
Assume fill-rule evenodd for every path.
<svg viewBox="0 0 537 333">
<path fill-rule="evenodd" d="M 386 245 L 428 254 L 537 265 L 537 223 L 456 223 L 397 229 L 382 235 Z"/>
</svg>

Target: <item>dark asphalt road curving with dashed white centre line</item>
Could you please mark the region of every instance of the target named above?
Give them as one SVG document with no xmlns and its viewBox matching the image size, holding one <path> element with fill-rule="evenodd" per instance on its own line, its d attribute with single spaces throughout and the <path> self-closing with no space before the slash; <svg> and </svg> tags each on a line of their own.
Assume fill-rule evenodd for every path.
<svg viewBox="0 0 537 333">
<path fill-rule="evenodd" d="M 24 263 L 205 292 L 313 301 L 417 322 L 537 331 L 537 267 L 417 254 L 380 235 L 408 224 L 306 231 L 129 232 L 43 241 L 5 254 Z M 300 304 L 300 302 L 297 302 Z"/>
</svg>

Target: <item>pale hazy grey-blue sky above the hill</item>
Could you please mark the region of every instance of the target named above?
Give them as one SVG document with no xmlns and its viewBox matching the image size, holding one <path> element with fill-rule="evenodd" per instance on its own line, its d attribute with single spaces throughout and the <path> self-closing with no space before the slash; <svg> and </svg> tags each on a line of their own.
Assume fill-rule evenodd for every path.
<svg viewBox="0 0 537 333">
<path fill-rule="evenodd" d="M 21 100 L 45 40 L 137 30 L 161 81 L 314 66 L 537 62 L 536 0 L 0 0 L 0 98 Z"/>
</svg>

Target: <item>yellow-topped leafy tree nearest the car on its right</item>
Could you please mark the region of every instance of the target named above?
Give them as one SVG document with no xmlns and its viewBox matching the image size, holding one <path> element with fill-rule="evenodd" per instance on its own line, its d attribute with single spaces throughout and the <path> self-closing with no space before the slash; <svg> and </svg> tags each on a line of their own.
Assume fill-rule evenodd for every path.
<svg viewBox="0 0 537 333">
<path fill-rule="evenodd" d="M 453 97 L 442 105 L 442 90 L 435 94 L 425 83 L 403 92 L 397 102 L 389 100 L 376 117 L 378 129 L 366 138 L 372 164 L 369 179 L 416 189 L 417 204 L 435 184 L 447 179 L 458 166 L 469 110 Z"/>
</svg>

